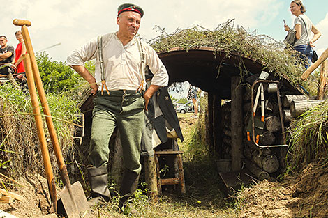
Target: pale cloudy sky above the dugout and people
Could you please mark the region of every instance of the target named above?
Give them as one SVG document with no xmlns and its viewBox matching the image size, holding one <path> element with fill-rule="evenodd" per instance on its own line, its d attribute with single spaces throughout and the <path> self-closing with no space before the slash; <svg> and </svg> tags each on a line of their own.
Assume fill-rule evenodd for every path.
<svg viewBox="0 0 328 218">
<path fill-rule="evenodd" d="M 34 52 L 47 52 L 55 61 L 66 61 L 73 49 L 98 35 L 117 31 L 117 7 L 121 3 L 135 3 L 144 10 L 139 33 L 147 40 L 160 33 L 158 25 L 167 33 L 195 25 L 213 30 L 228 19 L 235 26 L 249 32 L 271 36 L 277 41 L 285 38 L 283 20 L 292 27 L 290 1 L 286 0 L 166 0 L 166 1 L 104 1 L 104 0 L 3 0 L 1 2 L 0 35 L 8 38 L 8 45 L 16 47 L 15 18 L 31 21 L 29 34 Z M 322 37 L 315 42 L 320 55 L 328 47 L 328 1 L 304 0 L 313 24 Z"/>
</svg>

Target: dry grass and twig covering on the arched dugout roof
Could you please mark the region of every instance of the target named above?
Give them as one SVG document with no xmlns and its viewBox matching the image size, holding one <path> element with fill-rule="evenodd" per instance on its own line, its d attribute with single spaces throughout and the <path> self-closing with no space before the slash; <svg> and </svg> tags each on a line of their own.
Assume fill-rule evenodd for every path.
<svg viewBox="0 0 328 218">
<path fill-rule="evenodd" d="M 196 26 L 191 29 L 177 30 L 167 34 L 165 29 L 155 26 L 161 36 L 149 41 L 156 52 L 169 52 L 174 47 L 195 49 L 200 46 L 213 47 L 216 53 L 239 54 L 264 65 L 264 70 L 275 72 L 278 77 L 287 78 L 292 84 L 301 83 L 299 77 L 304 72 L 302 59 L 295 50 L 285 49 L 283 42 L 277 42 L 265 35 L 248 33 L 243 27 L 234 27 L 234 20 L 219 24 L 210 31 Z"/>
</svg>

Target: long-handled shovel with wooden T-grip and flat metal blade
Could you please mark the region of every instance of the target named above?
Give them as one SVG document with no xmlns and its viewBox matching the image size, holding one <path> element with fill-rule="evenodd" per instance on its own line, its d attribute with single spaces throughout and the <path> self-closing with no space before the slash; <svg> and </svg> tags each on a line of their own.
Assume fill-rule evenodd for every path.
<svg viewBox="0 0 328 218">
<path fill-rule="evenodd" d="M 38 94 L 40 97 L 41 104 L 43 105 L 43 113 L 45 114 L 45 121 L 47 123 L 47 127 L 50 133 L 52 145 L 54 147 L 54 154 L 57 158 L 61 180 L 64 183 L 64 189 L 59 192 L 59 196 L 61 196 L 61 201 L 59 201 L 58 207 L 61 206 L 62 203 L 63 209 L 65 210 L 68 218 L 89 217 L 89 215 L 87 214 L 89 210 L 89 205 L 87 203 L 87 198 L 85 197 L 81 183 L 75 182 L 73 185 L 70 184 L 66 164 L 64 162 L 57 134 L 54 129 L 54 123 L 52 122 L 52 116 L 50 114 L 49 105 L 47 104 L 47 98 L 45 97 L 45 90 L 43 88 L 40 72 L 36 63 L 36 56 L 33 52 L 31 38 L 29 37 L 29 31 L 27 30 L 27 26 L 31 26 L 31 22 L 29 22 L 28 20 L 15 19 L 13 20 L 13 24 L 15 24 L 16 26 L 22 26 L 22 35 L 24 38 L 25 45 L 27 47 L 27 53 L 29 54 L 31 59 L 33 77 L 36 82 L 36 87 L 38 88 Z"/>
</svg>

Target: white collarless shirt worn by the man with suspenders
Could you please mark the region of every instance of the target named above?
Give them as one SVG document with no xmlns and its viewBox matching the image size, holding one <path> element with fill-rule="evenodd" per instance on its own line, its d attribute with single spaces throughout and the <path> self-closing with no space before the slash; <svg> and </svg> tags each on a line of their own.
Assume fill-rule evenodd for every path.
<svg viewBox="0 0 328 218">
<path fill-rule="evenodd" d="M 128 44 L 123 46 L 116 33 L 109 33 L 103 38 L 103 61 L 105 65 L 105 81 L 109 90 L 137 90 L 141 84 L 140 75 L 140 52 L 137 40 L 133 38 Z M 158 58 L 155 50 L 142 43 L 145 55 L 145 65 L 154 74 L 151 80 L 152 85 L 167 86 L 168 75 L 165 66 Z M 101 89 L 101 72 L 98 58 L 97 38 L 87 42 L 86 45 L 74 50 L 67 57 L 68 65 L 84 65 L 85 61 L 96 59 L 96 83 Z M 144 86 L 145 88 L 145 86 Z"/>
</svg>

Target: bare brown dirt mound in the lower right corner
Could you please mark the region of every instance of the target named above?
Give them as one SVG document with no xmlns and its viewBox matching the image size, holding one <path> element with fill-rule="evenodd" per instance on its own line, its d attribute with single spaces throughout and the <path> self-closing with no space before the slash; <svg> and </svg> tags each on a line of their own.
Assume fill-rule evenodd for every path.
<svg viewBox="0 0 328 218">
<path fill-rule="evenodd" d="M 260 182 L 239 196 L 242 218 L 328 217 L 328 168 L 309 164 L 283 182 Z"/>
</svg>

